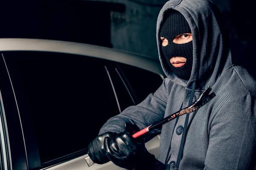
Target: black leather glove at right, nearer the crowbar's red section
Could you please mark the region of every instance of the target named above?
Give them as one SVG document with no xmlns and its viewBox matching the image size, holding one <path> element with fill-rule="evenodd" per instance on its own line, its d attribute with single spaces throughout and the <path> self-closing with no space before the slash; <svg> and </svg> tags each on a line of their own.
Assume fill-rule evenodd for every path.
<svg viewBox="0 0 256 170">
<path fill-rule="evenodd" d="M 125 124 L 124 127 L 124 132 L 106 137 L 104 141 L 106 155 L 114 164 L 128 170 L 169 169 L 169 165 L 164 165 L 148 152 L 143 136 L 132 137 L 140 130 L 137 125 Z"/>
</svg>

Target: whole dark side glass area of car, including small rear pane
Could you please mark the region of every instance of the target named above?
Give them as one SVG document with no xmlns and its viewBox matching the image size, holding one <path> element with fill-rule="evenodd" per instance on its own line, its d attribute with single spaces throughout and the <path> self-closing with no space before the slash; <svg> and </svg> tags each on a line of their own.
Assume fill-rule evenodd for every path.
<svg viewBox="0 0 256 170">
<path fill-rule="evenodd" d="M 96 57 L 43 51 L 9 51 L 3 56 L 29 169 L 87 153 L 110 117 L 138 104 L 163 82 L 150 71 Z"/>
</svg>

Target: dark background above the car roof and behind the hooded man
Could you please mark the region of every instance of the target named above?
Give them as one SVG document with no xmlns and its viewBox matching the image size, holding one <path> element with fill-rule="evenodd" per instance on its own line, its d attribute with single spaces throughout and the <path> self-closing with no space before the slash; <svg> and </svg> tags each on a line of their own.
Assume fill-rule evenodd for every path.
<svg viewBox="0 0 256 170">
<path fill-rule="evenodd" d="M 157 15 L 166 0 L 1 0 L 0 38 L 89 43 L 158 58 Z M 254 75 L 253 4 L 213 0 L 232 27 L 235 62 Z"/>
</svg>

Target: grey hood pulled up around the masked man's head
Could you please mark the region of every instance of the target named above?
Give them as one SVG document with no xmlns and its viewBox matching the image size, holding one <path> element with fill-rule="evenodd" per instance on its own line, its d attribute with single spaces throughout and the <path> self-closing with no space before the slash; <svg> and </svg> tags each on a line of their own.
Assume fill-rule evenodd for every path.
<svg viewBox="0 0 256 170">
<path fill-rule="evenodd" d="M 187 83 L 175 75 L 163 55 L 160 28 L 167 10 L 179 11 L 191 28 L 193 64 Z M 221 11 L 210 0 L 169 0 L 158 15 L 157 48 L 160 62 L 166 76 L 176 84 L 192 89 L 195 83 L 195 88 L 199 90 L 214 85 L 222 71 L 232 65 L 229 44 L 229 33 Z"/>
</svg>

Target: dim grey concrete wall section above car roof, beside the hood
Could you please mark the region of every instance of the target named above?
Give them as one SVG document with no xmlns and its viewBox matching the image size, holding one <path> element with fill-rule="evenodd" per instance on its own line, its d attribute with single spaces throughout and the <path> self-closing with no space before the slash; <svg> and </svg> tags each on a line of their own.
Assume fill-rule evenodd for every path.
<svg viewBox="0 0 256 170">
<path fill-rule="evenodd" d="M 167 0 L 92 0 L 122 3 L 125 12 L 111 11 L 111 43 L 113 48 L 136 52 L 158 59 L 156 23 L 160 9 Z M 215 0 L 223 10 L 229 1 Z"/>
</svg>

